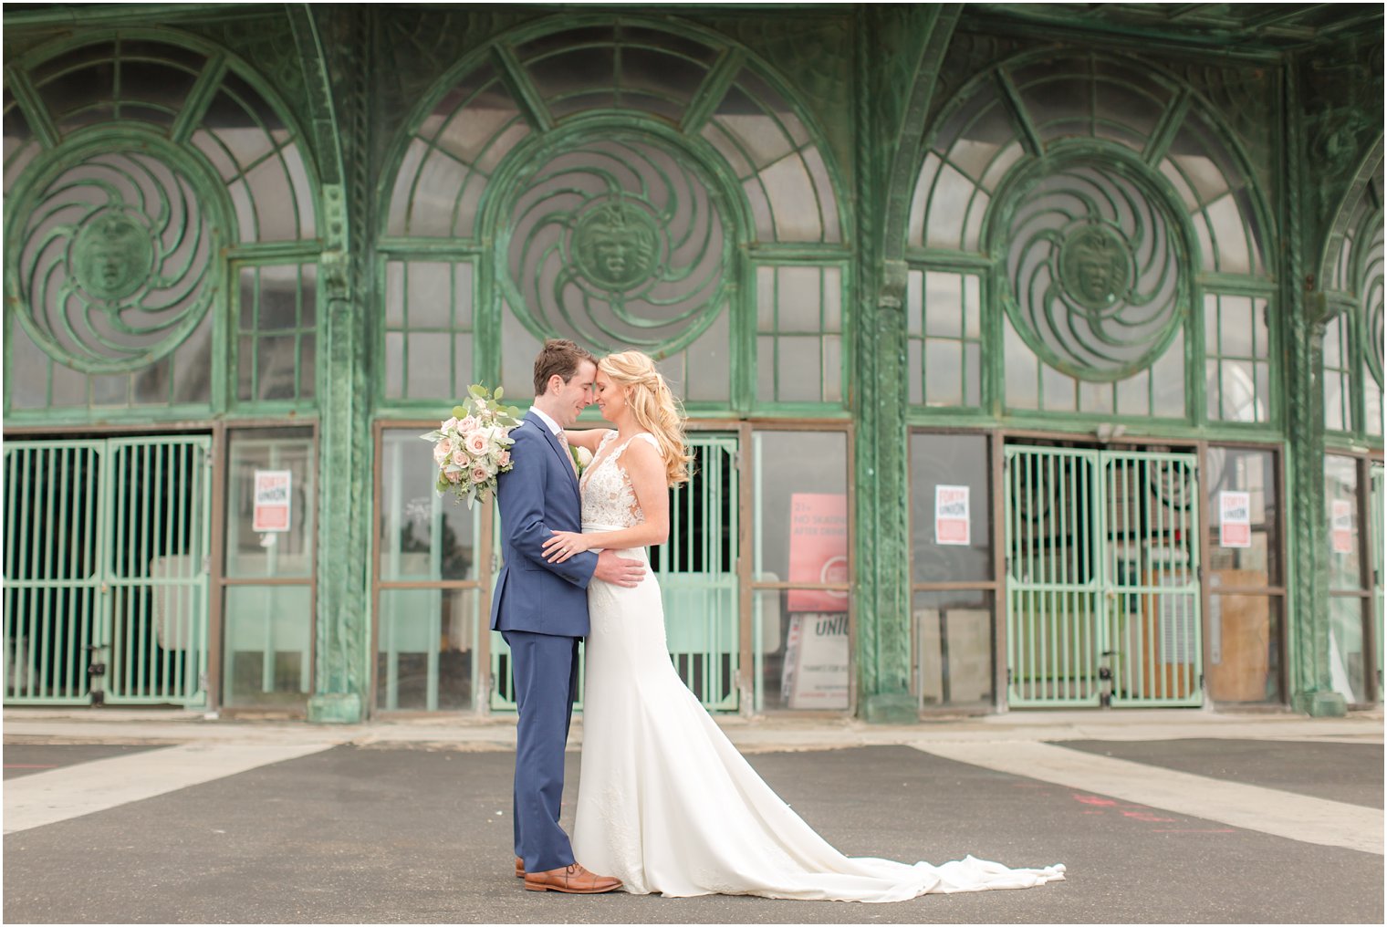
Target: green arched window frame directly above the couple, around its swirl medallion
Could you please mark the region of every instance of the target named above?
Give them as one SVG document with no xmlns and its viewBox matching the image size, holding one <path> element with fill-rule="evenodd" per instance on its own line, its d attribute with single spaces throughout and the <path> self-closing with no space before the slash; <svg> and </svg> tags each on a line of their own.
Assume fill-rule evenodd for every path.
<svg viewBox="0 0 1387 927">
<path fill-rule="evenodd" d="M 657 33 L 669 39 L 671 47 L 680 49 L 678 54 L 685 61 L 702 54 L 698 67 L 705 71 L 696 90 L 682 100 L 666 94 L 653 108 L 637 111 L 623 104 L 620 86 L 614 93 L 612 86 L 603 89 L 598 83 L 556 92 L 535 76 L 535 61 L 556 60 L 583 44 L 566 36 L 588 35 L 587 44 L 599 47 L 602 42 L 591 36 L 602 31 L 644 35 L 646 43 L 653 42 L 649 36 Z M 620 58 L 621 51 L 631 46 L 617 39 L 613 47 Z M 743 87 L 753 87 L 761 96 L 748 96 Z M 509 97 L 510 110 L 491 117 L 495 126 L 485 144 L 472 146 L 473 167 L 456 183 L 456 197 L 442 211 L 447 215 L 423 218 L 416 210 L 416 204 L 423 203 L 417 185 L 429 169 L 430 158 L 437 157 L 431 151 L 434 142 L 455 130 L 458 114 L 472 100 L 499 92 Z M 598 99 L 598 92 L 608 97 Z M 761 107 L 781 136 L 791 140 L 789 148 L 775 157 L 782 161 L 799 158 L 803 165 L 803 176 L 814 192 L 817 235 L 807 239 L 804 235 L 786 235 L 777 225 L 773 207 L 777 196 L 779 201 L 785 197 L 777 193 L 775 178 L 767 176 L 767 169 L 782 161 L 757 162 L 756 154 L 738 140 L 735 130 L 727 129 L 718 107 L 736 93 Z M 440 111 L 449 97 L 456 105 L 447 112 Z M 591 108 L 578 105 L 585 97 L 594 103 Z M 641 99 L 653 97 L 646 93 Z M 766 99 L 775 100 L 775 107 L 766 108 Z M 771 414 L 847 414 L 846 358 L 852 350 L 850 314 L 845 311 L 850 287 L 852 230 L 845 194 L 847 185 L 832 161 L 825 133 L 811 114 L 795 100 L 786 83 L 745 47 L 688 22 L 680 22 L 675 32 L 667 21 L 641 17 L 585 14 L 551 18 L 508 33 L 466 56 L 420 100 L 406 126 L 390 147 L 380 185 L 377 271 L 384 312 L 377 344 L 384 358 L 384 376 L 379 377 L 377 407 L 383 411 L 433 409 L 449 390 L 456 394 L 477 380 L 503 382 L 510 393 L 527 386 L 528 375 L 522 376 L 520 368 L 527 368 L 541 333 L 528 325 L 517 328 L 499 297 L 498 275 L 503 269 L 491 260 L 495 244 L 492 230 L 499 218 L 497 192 L 523 173 L 528 153 L 542 150 L 542 143 L 537 140 L 540 136 L 577 132 L 584 126 L 595 135 L 602 126 L 612 126 L 648 132 L 688 153 L 721 187 L 728 207 L 727 219 L 735 226 L 735 240 L 741 243 L 735 248 L 734 266 L 742 284 L 734 287 L 728 311 L 709 329 L 723 326 L 727 330 L 728 347 L 723 352 L 727 383 L 703 393 L 691 384 L 684 394 L 685 407 L 692 414 L 752 408 Z M 465 147 L 456 140 L 454 146 Z M 476 165 L 484 165 L 490 172 L 501 171 L 502 175 L 480 178 Z M 487 182 L 484 192 L 467 189 L 467 185 L 476 186 L 483 180 Z M 763 205 L 759 207 L 757 201 Z M 476 222 L 465 215 L 469 210 L 476 214 Z M 424 228 L 429 235 L 417 233 Z M 412 301 L 409 296 L 411 279 L 420 265 L 427 265 L 426 275 L 436 280 L 449 280 L 449 308 L 434 314 L 429 323 L 415 325 L 408 318 L 411 307 L 427 312 L 422 300 Z M 779 280 L 786 273 L 795 278 L 811 271 L 827 282 L 818 311 L 820 330 L 811 334 L 786 333 L 778 328 L 774 305 L 757 308 L 759 294 L 766 291 L 757 280 L 767 273 Z M 441 293 L 441 286 L 434 283 L 431 290 Z M 469 298 L 470 305 L 463 305 L 463 300 Z M 817 344 L 809 346 L 806 339 L 817 339 Z M 825 376 L 836 368 L 834 376 L 827 377 L 829 383 L 813 397 L 795 391 L 802 377 L 777 377 L 793 364 L 791 348 L 804 347 L 818 359 Z M 416 391 L 409 383 L 409 377 L 416 376 L 416 351 L 433 352 L 433 362 L 448 369 L 423 391 Z M 761 358 L 760 375 L 757 358 Z M 767 365 L 773 368 L 768 379 Z M 662 368 L 678 384 L 694 364 L 681 361 L 675 354 L 662 359 Z M 723 394 L 713 396 L 718 391 Z"/>
</svg>

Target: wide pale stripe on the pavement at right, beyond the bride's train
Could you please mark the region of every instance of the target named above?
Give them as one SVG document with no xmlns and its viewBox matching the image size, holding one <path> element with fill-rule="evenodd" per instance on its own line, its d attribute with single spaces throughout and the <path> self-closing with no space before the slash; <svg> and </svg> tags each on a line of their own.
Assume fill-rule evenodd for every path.
<svg viewBox="0 0 1387 927">
<path fill-rule="evenodd" d="M 915 749 L 1323 847 L 1383 855 L 1383 812 L 1276 788 L 1097 756 L 1054 744 L 917 742 Z"/>
</svg>

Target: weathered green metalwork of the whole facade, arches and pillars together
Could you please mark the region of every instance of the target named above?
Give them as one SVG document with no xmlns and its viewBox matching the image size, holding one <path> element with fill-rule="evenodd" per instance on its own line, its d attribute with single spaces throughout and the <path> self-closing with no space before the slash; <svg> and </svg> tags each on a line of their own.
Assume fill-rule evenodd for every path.
<svg viewBox="0 0 1387 927">
<path fill-rule="evenodd" d="M 126 158 L 154 153 L 171 165 L 173 176 L 187 179 L 201 194 L 198 201 L 209 216 L 208 235 L 218 236 L 216 250 L 226 250 L 226 260 L 203 265 L 205 304 L 194 301 L 186 309 L 193 315 L 207 314 L 214 325 L 212 341 L 218 350 L 208 364 L 212 382 L 207 401 L 112 405 L 97 400 L 64 405 L 50 384 L 42 408 L 10 408 L 7 396 L 7 425 L 85 432 L 103 425 L 316 420 L 323 479 L 318 493 L 322 530 L 315 694 L 309 712 L 319 720 L 358 720 L 370 695 L 374 658 L 368 601 L 370 519 L 365 507 L 344 500 L 370 498 L 374 420 L 430 418 L 440 405 L 430 397 L 387 398 L 384 391 L 386 325 L 380 307 L 386 266 L 390 261 L 409 260 L 473 262 L 470 369 L 473 379 L 495 382 L 503 347 L 503 314 L 495 294 L 506 287 L 519 290 L 516 284 L 522 283 L 508 280 L 503 240 L 513 225 L 508 205 L 515 205 L 546 158 L 596 139 L 620 137 L 632 151 L 657 150 L 687 167 L 698 185 L 713 192 L 712 208 L 720 211 L 725 225 L 721 243 L 725 250 L 718 253 L 717 262 L 721 289 L 707 301 L 707 314 L 687 330 L 652 336 L 646 344 L 649 350 L 674 351 L 682 337 L 696 334 L 717 312 L 734 319 L 728 336 L 730 398 L 689 402 L 689 412 L 856 422 L 854 658 L 860 715 L 874 720 L 914 717 L 915 699 L 908 694 L 913 619 L 907 519 L 913 487 L 906 461 L 906 432 L 911 425 L 1036 429 L 1090 440 L 1099 425 L 1111 423 L 1153 443 L 1251 440 L 1280 448 L 1287 473 L 1286 626 L 1291 698 L 1307 711 L 1338 711 L 1327 691 L 1323 601 L 1327 538 L 1320 479 L 1326 447 L 1320 307 L 1327 312 L 1359 311 L 1345 294 L 1326 291 L 1325 278 L 1344 225 L 1356 215 L 1365 178 L 1380 173 L 1381 14 L 1345 7 L 1340 15 L 1327 17 L 1325 11 L 1262 4 L 1179 15 L 1172 10 L 1140 4 L 1083 10 L 917 4 L 736 11 L 681 7 L 673 12 L 653 7 L 617 11 L 480 6 L 386 11 L 311 4 L 184 4 L 80 12 L 62 7 L 7 11 L 6 89 L 14 100 L 14 112 L 26 117 L 35 136 L 29 148 L 12 157 L 37 151 L 36 160 L 26 169 L 15 169 L 14 176 L 11 165 L 6 165 L 7 254 L 21 251 L 15 246 L 25 237 L 26 214 L 42 204 L 44 190 L 60 182 L 64 172 L 100 153 Z M 166 25 L 146 26 L 151 21 Z M 681 119 L 662 119 L 631 107 L 566 115 L 556 101 L 570 99 L 573 87 L 546 87 L 523 60 L 527 43 L 560 29 L 610 24 L 667 31 L 716 53 Z M 118 33 L 172 43 L 203 56 L 189 75 L 184 105 L 171 119 L 166 135 L 147 129 L 132 114 L 72 129 L 61 118 L 53 118 L 44 105 L 43 82 L 33 76 L 33 65 L 90 39 Z M 1119 153 L 1110 139 L 1089 129 L 1061 140 L 1046 135 L 1047 124 L 1033 117 L 1033 103 L 1026 96 L 1033 85 L 1019 79 L 1017 68 L 1043 69 L 1046 62 L 1061 60 L 1071 64 L 1082 60 L 1087 62 L 1085 67 L 1099 71 L 1128 68 L 1151 76 L 1169 92 L 1139 146 Z M 472 235 L 390 235 L 387 212 L 412 133 L 459 80 L 481 65 L 503 75 L 523 103 L 523 119 L 534 137 L 492 165 L 498 173 L 483 204 L 485 215 Z M 743 72 L 755 74 L 785 101 L 784 110 L 773 107 L 778 130 L 788 132 L 786 126 L 798 119 L 822 154 L 836 216 L 821 212 L 818 219 L 825 228 L 836 221 L 839 240 L 824 236 L 814 241 L 771 241 L 759 233 L 755 216 L 742 203 L 742 178 L 699 135 L 714 122 L 718 104 Z M 205 158 L 187 151 L 227 75 L 240 75 L 254 92 L 270 100 L 270 108 L 279 107 L 275 118 L 301 139 L 307 183 L 316 208 L 312 236 L 237 240 L 234 229 L 240 218 L 234 204 L 219 189 Z M 913 192 L 932 133 L 960 115 L 960 101 L 976 87 L 997 93 L 1010 114 L 1024 151 L 1021 167 L 1013 167 L 1010 180 L 997 190 L 988 210 L 988 235 L 976 248 L 917 241 L 910 229 Z M 1182 200 L 1175 182 L 1162 186 L 1165 182 L 1153 179 L 1153 173 L 1179 150 L 1180 132 L 1191 121 L 1201 121 L 1201 130 L 1226 146 L 1229 176 L 1236 178 L 1248 204 L 1240 222 L 1244 233 L 1247 228 L 1257 229 L 1254 237 L 1265 261 L 1261 269 L 1243 273 L 1209 264 L 1194 275 L 1184 266 L 1184 258 L 1197 250 L 1198 226 L 1193 214 L 1178 208 Z M 1049 343 L 1039 334 L 1042 325 L 1033 309 L 1044 307 L 1025 308 L 1007 301 L 1008 293 L 1018 291 L 1015 275 L 1006 271 L 1010 226 L 1026 214 L 1032 205 L 1028 197 L 1039 185 L 1057 183 L 1057 178 L 1076 165 L 1111 182 L 1114 190 L 1142 190 L 1157 203 L 1153 216 L 1158 221 L 1139 230 L 1122 228 L 1115 216 L 1092 205 L 1072 208 L 1071 218 L 1078 225 L 1062 236 L 1039 241 L 1039 247 L 1049 248 L 1047 257 L 1057 268 L 1054 305 L 1067 301 L 1069 312 L 1101 316 L 1115 301 L 1111 297 L 1122 290 L 1117 283 L 1130 276 L 1122 266 L 1135 254 L 1139 232 L 1164 235 L 1172 253 L 1180 255 L 1175 272 L 1183 275 L 1179 279 L 1183 301 L 1172 303 L 1169 325 L 1146 348 L 1126 346 L 1111 357 L 1065 354 L 1053 344 L 1046 347 Z M 614 265 L 603 269 L 595 257 L 621 237 L 614 225 L 637 229 L 630 235 L 638 254 L 648 250 L 642 241 L 663 229 L 664 219 L 651 210 L 649 192 L 631 201 L 641 203 L 642 212 L 628 212 L 627 207 L 609 210 L 605 226 L 592 218 L 602 205 L 595 201 L 589 204 L 591 212 L 570 207 L 565 219 L 578 230 L 574 240 L 591 246 L 583 248 L 587 257 L 580 255 L 573 279 L 591 287 L 595 298 L 608 305 L 620 307 L 655 276 L 646 258 L 613 271 Z M 821 211 L 827 208 L 827 203 L 820 204 Z M 294 212 L 300 212 L 297 203 Z M 151 268 L 158 260 L 154 239 L 140 239 L 132 232 L 143 228 L 147 218 L 147 210 L 139 211 L 128 198 L 118 198 L 93 208 L 83 223 L 75 223 L 65 233 L 72 246 L 71 291 L 93 307 L 126 307 L 137 312 L 141 287 L 155 276 Z M 614 223 L 616 218 L 624 222 Z M 1085 223 L 1105 230 L 1079 228 Z M 1218 239 L 1223 239 L 1226 229 L 1207 226 L 1216 254 Z M 114 257 L 101 254 L 105 246 L 114 247 Z M 1096 255 L 1108 255 L 1105 269 Z M 239 268 L 313 261 L 319 303 L 312 396 L 273 401 L 239 397 L 241 348 L 230 344 L 245 330 L 233 316 L 240 309 Z M 835 334 L 841 336 L 843 351 L 843 402 L 778 401 L 778 394 L 759 394 L 757 336 L 778 337 L 782 329 L 778 303 L 771 314 L 773 329 L 757 329 L 757 272 L 791 264 L 839 269 L 845 311 L 842 330 Z M 974 273 L 981 280 L 981 334 L 974 340 L 982 355 L 976 402 L 911 405 L 911 377 L 922 372 L 913 369 L 910 351 L 913 344 L 921 344 L 922 336 L 913 341 L 906 289 L 908 275 L 921 268 Z M 32 305 L 18 296 L 18 280 L 15 268 L 7 266 L 8 332 L 35 328 Z M 1100 284 L 1107 284 L 1107 291 Z M 1255 379 L 1257 397 L 1266 405 L 1257 420 L 1223 420 L 1207 411 L 1205 362 L 1225 362 L 1223 357 L 1215 357 L 1215 346 L 1205 343 L 1203 330 L 1203 298 L 1209 293 L 1268 301 L 1266 336 L 1273 362 L 1268 380 Z M 526 305 L 534 333 L 548 329 L 540 309 Z M 1024 334 L 1029 326 L 1029 337 L 1022 340 L 1029 340 L 1056 368 L 1068 369 L 1080 384 L 1142 368 L 1171 339 L 1180 337 L 1183 407 L 1168 416 L 1018 408 L 1007 397 L 1008 325 Z M 1354 330 L 1372 332 L 1373 326 L 1380 326 L 1380 321 L 1355 319 Z M 254 326 L 250 330 L 262 334 Z M 105 347 L 93 357 L 75 358 L 65 341 L 44 343 L 37 328 L 31 337 L 44 344 L 49 354 L 62 358 L 69 369 L 114 364 L 133 368 L 133 376 L 160 352 L 176 357 L 180 333 L 186 334 L 175 326 L 168 344 L 146 344 L 132 357 L 114 361 Z M 7 368 L 15 359 L 25 359 L 11 357 L 8 343 L 6 351 Z M 1380 354 L 1366 358 L 1366 373 L 1355 369 L 1352 377 L 1380 380 Z M 1037 390 L 1044 386 L 1040 380 L 1037 376 Z M 1375 452 L 1381 447 L 1381 436 L 1362 429 L 1361 393 L 1358 389 L 1352 397 L 1354 430 L 1333 440 L 1340 447 L 1348 443 Z M 1154 398 L 1150 404 L 1154 405 Z"/>
</svg>

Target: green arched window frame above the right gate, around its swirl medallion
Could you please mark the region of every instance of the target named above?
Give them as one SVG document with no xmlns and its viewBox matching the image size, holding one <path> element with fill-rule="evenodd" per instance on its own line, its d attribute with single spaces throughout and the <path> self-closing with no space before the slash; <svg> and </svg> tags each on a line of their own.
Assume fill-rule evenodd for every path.
<svg viewBox="0 0 1387 927">
<path fill-rule="evenodd" d="M 1068 71 L 1067 64 L 1072 65 Z M 1147 122 L 1142 132 L 1105 119 L 1093 103 L 1104 82 L 1115 86 L 1123 72 L 1140 74 L 1144 79 L 1144 83 L 1132 82 L 1122 87 L 1126 94 L 1123 104 Z M 1031 76 L 1021 76 L 1025 74 Z M 1061 86 L 1064 80 L 1069 80 L 1069 85 Z M 1089 107 L 1083 118 L 1075 115 L 1078 108 L 1067 118 L 1032 118 L 1031 107 L 1043 99 L 1036 92 L 1037 86 L 1050 83 L 1061 90 L 1072 90 L 1080 82 L 1086 82 L 1082 105 Z M 988 94 L 992 94 L 990 100 Z M 943 172 L 958 172 L 958 168 L 951 167 L 949 158 L 940 157 L 939 146 L 945 144 L 945 154 L 951 154 L 947 147 L 951 142 L 947 139 L 964 139 L 970 126 L 988 115 L 988 105 L 997 107 L 1004 114 L 1010 135 L 993 146 L 990 158 L 971 168 L 972 175 L 960 173 L 971 183 L 971 193 L 942 204 L 935 185 Z M 1258 180 L 1259 172 L 1254 169 L 1234 135 L 1222 128 L 1216 112 L 1216 107 L 1183 78 L 1139 56 L 1047 49 L 1013 56 L 968 78 L 945 103 L 925 135 L 925 158 L 911 194 L 906 254 L 911 268 L 907 304 L 908 359 L 914 380 L 910 396 L 913 415 L 918 418 L 928 409 L 931 418 L 989 419 L 1007 414 L 1076 422 L 1130 420 L 1155 429 L 1165 427 L 1161 423 L 1165 419 L 1169 427 L 1201 425 L 1234 433 L 1275 432 L 1282 416 L 1280 373 L 1272 364 L 1279 341 L 1272 257 L 1276 254 L 1272 248 L 1276 226 Z M 1133 117 L 1130 121 L 1136 124 L 1140 119 Z M 1176 164 L 1172 157 L 1172 147 L 1180 143 L 1182 132 L 1189 126 L 1196 126 L 1196 137 L 1212 146 L 1211 165 L 1215 171 L 1221 171 L 1223 176 L 1236 175 L 1221 190 L 1203 190 L 1200 185 L 1207 178 L 1191 173 L 1187 165 Z M 1146 371 L 1129 377 L 1132 383 L 1142 376 L 1147 380 L 1150 400 L 1144 409 L 1122 408 L 1119 390 L 1126 383 L 1111 389 L 1104 386 L 1108 396 L 1099 397 L 1101 401 L 1086 408 L 1085 396 L 1092 391 L 1097 397 L 1101 380 L 1089 382 L 1064 375 L 1040 358 L 1035 359 L 1037 379 L 1044 379 L 1049 371 L 1051 379 L 1068 380 L 1067 389 L 1076 397 L 1074 405 L 1050 409 L 1039 400 L 1036 408 L 1008 402 L 1006 380 L 1015 371 L 1007 359 L 1007 344 L 1008 339 L 1017 344 L 1022 341 L 1003 309 L 1008 291 L 1003 268 L 1007 243 L 1003 226 L 1007 216 L 999 214 L 999 201 L 1007 197 L 1010 178 L 1024 172 L 1028 165 L 1043 164 L 1057 150 L 1080 151 L 1096 161 L 1111 161 L 1115 171 L 1130 172 L 1136 168 L 1143 175 L 1143 183 L 1158 190 L 1166 204 L 1182 205 L 1171 212 L 1179 226 L 1178 236 L 1187 243 L 1189 255 L 1196 262 L 1194 272 L 1189 275 L 1189 307 L 1178 346 L 1166 348 Z M 1236 248 L 1230 251 L 1227 243 L 1221 243 L 1215 232 L 1226 218 L 1211 212 L 1230 210 L 1241 216 L 1246 241 L 1243 257 L 1239 257 Z M 943 216 L 949 228 L 956 229 L 953 246 L 938 240 L 936 228 L 929 225 L 936 216 Z M 928 296 L 931 291 L 935 293 L 933 300 Z M 975 303 L 965 298 L 961 323 L 953 325 L 943 336 L 933 337 L 927 332 L 927 325 L 936 323 L 939 316 L 925 316 L 925 303 L 951 305 L 953 293 L 960 291 L 972 293 Z M 1236 311 L 1237 318 L 1250 322 L 1251 333 L 1246 341 L 1251 344 L 1251 350 L 1247 357 L 1221 347 L 1218 330 L 1205 332 L 1205 326 L 1200 323 L 1205 318 L 1218 318 L 1225 309 Z M 933 383 L 929 379 L 928 352 L 939 350 L 939 343 L 951 350 L 954 357 L 964 357 L 964 382 L 954 383 L 957 375 L 950 371 L 943 386 L 935 387 L 945 396 L 943 401 L 935 401 L 931 396 Z M 1178 355 L 1178 362 L 1172 362 L 1172 354 Z M 967 365 L 971 358 L 976 358 L 976 372 Z M 1254 398 L 1241 405 L 1241 411 L 1232 411 L 1226 404 L 1237 405 L 1236 397 L 1222 391 L 1226 382 L 1223 371 L 1229 366 L 1237 366 L 1239 372 L 1247 371 L 1250 376 L 1246 379 L 1254 387 Z M 1150 393 L 1154 389 L 1151 383 L 1168 383 L 1172 376 L 1183 383 L 1183 397 L 1157 409 L 1154 393 Z"/>
</svg>

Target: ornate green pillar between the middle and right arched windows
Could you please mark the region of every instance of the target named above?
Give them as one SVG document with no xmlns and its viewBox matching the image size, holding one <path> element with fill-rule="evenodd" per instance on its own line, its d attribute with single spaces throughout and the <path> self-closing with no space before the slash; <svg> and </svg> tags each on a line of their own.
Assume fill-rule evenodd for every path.
<svg viewBox="0 0 1387 927">
<path fill-rule="evenodd" d="M 910 694 L 910 482 L 904 414 L 904 229 L 908 193 L 892 186 L 917 150 L 938 53 L 954 7 L 868 8 L 857 22 L 857 699 L 871 722 L 915 717 Z M 890 62 L 888 68 L 877 67 Z M 895 168 L 895 171 L 893 171 Z"/>
</svg>

